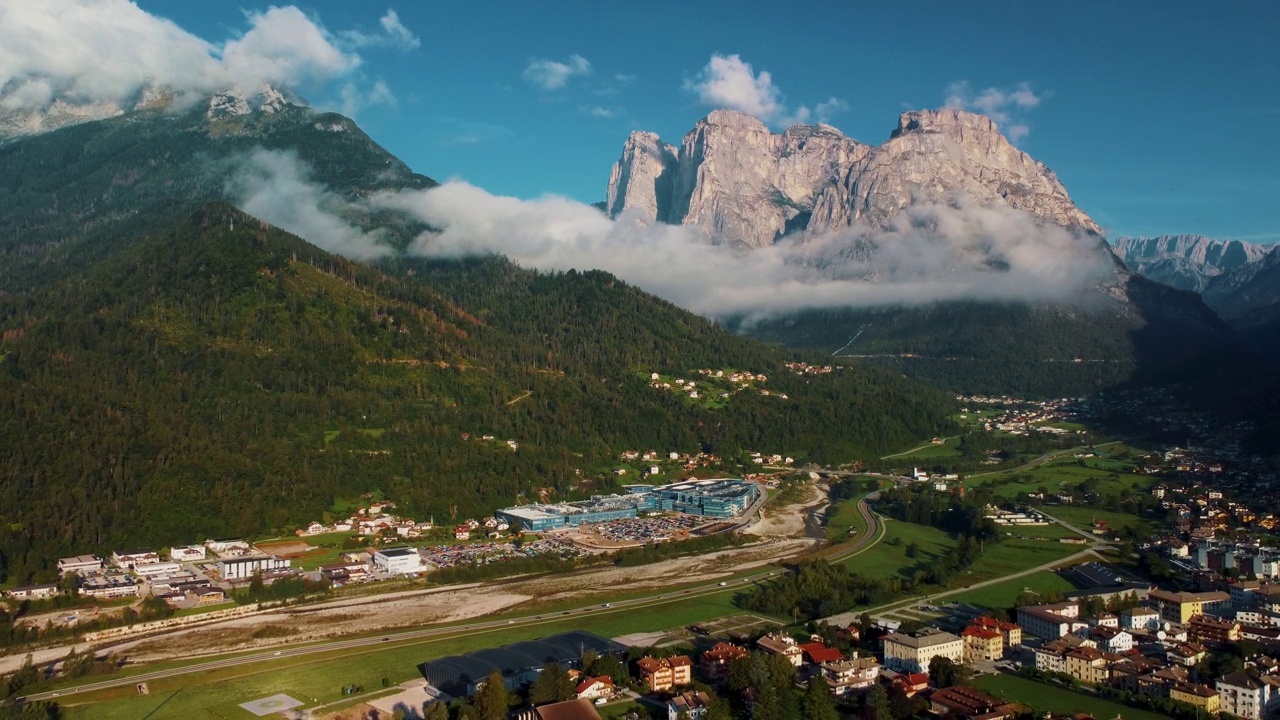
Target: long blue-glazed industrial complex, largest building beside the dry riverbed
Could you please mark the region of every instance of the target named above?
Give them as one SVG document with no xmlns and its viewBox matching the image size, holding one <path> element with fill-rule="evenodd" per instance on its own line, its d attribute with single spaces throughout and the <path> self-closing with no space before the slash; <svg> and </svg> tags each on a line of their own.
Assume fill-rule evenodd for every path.
<svg viewBox="0 0 1280 720">
<path fill-rule="evenodd" d="M 760 497 L 760 486 L 733 479 L 685 480 L 669 486 L 627 486 L 626 489 L 627 495 L 595 496 L 580 502 L 506 507 L 494 515 L 536 533 L 636 518 L 641 512 L 733 518 L 745 512 Z"/>
</svg>

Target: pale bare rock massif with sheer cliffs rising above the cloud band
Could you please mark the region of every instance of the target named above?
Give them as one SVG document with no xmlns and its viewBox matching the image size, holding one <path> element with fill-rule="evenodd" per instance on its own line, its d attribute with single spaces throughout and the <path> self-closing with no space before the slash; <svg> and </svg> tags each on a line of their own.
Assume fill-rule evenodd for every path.
<svg viewBox="0 0 1280 720">
<path fill-rule="evenodd" d="M 794 231 L 884 227 L 913 202 L 957 195 L 1101 234 L 1043 163 L 989 118 L 952 109 L 904 113 L 879 146 L 827 124 L 773 133 L 736 110 L 707 115 L 680 147 L 634 132 L 613 165 L 607 211 L 764 247 Z"/>
</svg>

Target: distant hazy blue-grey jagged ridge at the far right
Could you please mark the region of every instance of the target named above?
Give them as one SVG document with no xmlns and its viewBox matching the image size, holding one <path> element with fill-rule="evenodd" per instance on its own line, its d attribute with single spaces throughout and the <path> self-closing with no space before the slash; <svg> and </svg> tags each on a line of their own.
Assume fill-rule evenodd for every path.
<svg viewBox="0 0 1280 720">
<path fill-rule="evenodd" d="M 1179 290 L 1203 292 L 1212 278 L 1261 260 L 1270 247 L 1199 234 L 1119 237 L 1116 255 L 1135 273 Z"/>
</svg>

